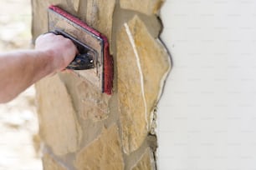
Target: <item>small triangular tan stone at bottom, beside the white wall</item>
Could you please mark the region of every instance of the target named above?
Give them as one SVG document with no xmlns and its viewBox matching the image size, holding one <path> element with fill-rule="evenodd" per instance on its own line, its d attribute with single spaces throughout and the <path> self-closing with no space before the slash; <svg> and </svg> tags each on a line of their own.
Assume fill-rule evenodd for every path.
<svg viewBox="0 0 256 170">
<path fill-rule="evenodd" d="M 154 155 L 150 148 L 146 149 L 146 152 L 141 156 L 138 163 L 132 168 L 132 170 L 155 170 Z"/>
</svg>

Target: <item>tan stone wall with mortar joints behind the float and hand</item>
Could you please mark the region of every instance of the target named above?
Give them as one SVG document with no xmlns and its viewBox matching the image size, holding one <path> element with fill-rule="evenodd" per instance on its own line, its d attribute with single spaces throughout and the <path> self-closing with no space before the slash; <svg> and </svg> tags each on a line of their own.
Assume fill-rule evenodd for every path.
<svg viewBox="0 0 256 170">
<path fill-rule="evenodd" d="M 58 5 L 103 32 L 115 61 L 111 96 L 69 72 L 36 84 L 44 169 L 156 169 L 156 106 L 171 67 L 158 39 L 162 1 L 32 2 L 33 39 Z"/>
</svg>

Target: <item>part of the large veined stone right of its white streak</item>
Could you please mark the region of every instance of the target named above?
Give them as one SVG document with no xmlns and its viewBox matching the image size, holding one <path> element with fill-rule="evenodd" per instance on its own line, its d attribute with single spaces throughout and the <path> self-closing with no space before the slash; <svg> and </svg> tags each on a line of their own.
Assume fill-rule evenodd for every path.
<svg viewBox="0 0 256 170">
<path fill-rule="evenodd" d="M 159 39 L 151 37 L 140 18 L 129 22 L 129 30 L 135 42 L 138 57 L 140 57 L 141 72 L 143 72 L 144 91 L 148 121 L 151 122 L 153 111 L 158 102 L 163 83 L 171 68 L 171 61 L 166 48 Z"/>
</svg>

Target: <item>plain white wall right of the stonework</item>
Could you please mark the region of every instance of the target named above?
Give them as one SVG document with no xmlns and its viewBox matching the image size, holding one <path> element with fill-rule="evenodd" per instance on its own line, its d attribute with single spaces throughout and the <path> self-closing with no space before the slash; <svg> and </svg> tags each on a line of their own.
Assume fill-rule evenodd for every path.
<svg viewBox="0 0 256 170">
<path fill-rule="evenodd" d="M 256 0 L 166 0 L 158 169 L 256 169 Z"/>
</svg>

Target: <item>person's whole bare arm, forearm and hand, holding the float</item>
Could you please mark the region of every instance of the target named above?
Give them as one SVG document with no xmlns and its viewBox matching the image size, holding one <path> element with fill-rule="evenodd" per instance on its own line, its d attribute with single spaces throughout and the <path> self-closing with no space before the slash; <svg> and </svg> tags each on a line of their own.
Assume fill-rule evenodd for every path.
<svg viewBox="0 0 256 170">
<path fill-rule="evenodd" d="M 37 38 L 33 50 L 0 53 L 0 103 L 10 101 L 42 77 L 63 70 L 76 52 L 70 39 L 47 33 Z"/>
</svg>

